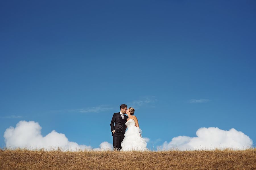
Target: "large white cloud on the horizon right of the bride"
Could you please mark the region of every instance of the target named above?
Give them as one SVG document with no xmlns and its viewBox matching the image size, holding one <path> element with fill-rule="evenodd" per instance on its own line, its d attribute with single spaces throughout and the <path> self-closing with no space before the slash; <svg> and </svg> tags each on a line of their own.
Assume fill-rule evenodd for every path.
<svg viewBox="0 0 256 170">
<path fill-rule="evenodd" d="M 196 132 L 197 137 L 178 136 L 172 138 L 169 143 L 165 141 L 159 150 L 179 149 L 197 150 L 215 148 L 233 148 L 243 150 L 252 147 L 253 141 L 241 131 L 232 128 L 228 131 L 219 128 L 200 128 Z"/>
</svg>

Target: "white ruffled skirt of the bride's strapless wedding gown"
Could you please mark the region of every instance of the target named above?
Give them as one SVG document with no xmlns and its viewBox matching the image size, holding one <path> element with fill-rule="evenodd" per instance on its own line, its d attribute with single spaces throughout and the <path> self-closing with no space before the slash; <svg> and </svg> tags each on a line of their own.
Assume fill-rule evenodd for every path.
<svg viewBox="0 0 256 170">
<path fill-rule="evenodd" d="M 121 151 L 148 151 L 145 139 L 140 136 L 140 128 L 136 126 L 129 127 L 124 135 L 125 137 L 121 142 Z"/>
</svg>

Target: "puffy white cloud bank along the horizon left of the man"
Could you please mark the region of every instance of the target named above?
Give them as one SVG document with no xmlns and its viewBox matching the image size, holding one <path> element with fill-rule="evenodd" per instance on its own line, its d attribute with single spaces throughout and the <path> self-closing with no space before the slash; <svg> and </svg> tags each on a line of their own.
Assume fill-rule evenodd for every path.
<svg viewBox="0 0 256 170">
<path fill-rule="evenodd" d="M 58 133 L 55 130 L 43 137 L 41 135 L 42 127 L 38 122 L 20 121 L 16 127 L 9 127 L 5 130 L 4 138 L 7 148 L 27 148 L 30 150 L 45 148 L 53 150 L 60 147 L 63 151 L 70 150 L 92 150 L 91 146 L 79 145 L 67 139 L 65 134 Z M 106 150 L 111 144 L 102 142 L 100 148 Z"/>
</svg>

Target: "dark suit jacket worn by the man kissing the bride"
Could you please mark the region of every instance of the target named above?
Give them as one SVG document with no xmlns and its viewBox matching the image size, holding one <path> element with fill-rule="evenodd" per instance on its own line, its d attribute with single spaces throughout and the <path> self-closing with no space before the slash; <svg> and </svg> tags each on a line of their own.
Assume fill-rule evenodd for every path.
<svg viewBox="0 0 256 170">
<path fill-rule="evenodd" d="M 126 116 L 125 114 L 124 114 L 124 118 L 122 118 L 120 112 L 114 113 L 110 123 L 111 131 L 115 130 L 115 133 L 123 131 L 123 133 L 125 133 L 125 122 L 127 121 L 127 119 L 128 119 L 128 116 Z M 115 123 L 115 126 L 114 126 L 114 123 Z M 112 132 L 112 136 L 113 136 L 113 132 Z"/>
</svg>

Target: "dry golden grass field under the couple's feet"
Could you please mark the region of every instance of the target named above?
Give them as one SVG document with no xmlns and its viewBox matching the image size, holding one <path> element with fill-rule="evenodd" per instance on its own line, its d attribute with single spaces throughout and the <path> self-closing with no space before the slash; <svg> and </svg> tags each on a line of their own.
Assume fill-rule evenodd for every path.
<svg viewBox="0 0 256 170">
<path fill-rule="evenodd" d="M 0 169 L 256 169 L 256 149 L 162 152 L 0 149 Z"/>
</svg>

